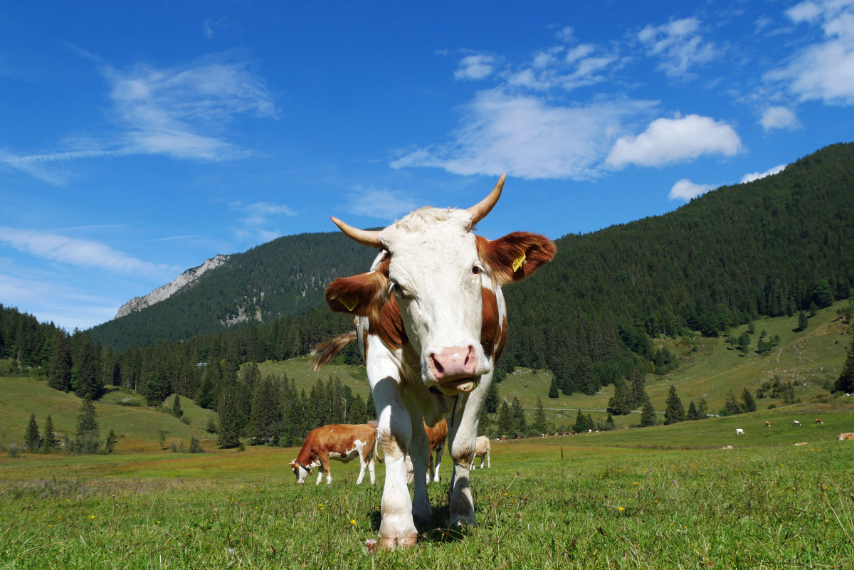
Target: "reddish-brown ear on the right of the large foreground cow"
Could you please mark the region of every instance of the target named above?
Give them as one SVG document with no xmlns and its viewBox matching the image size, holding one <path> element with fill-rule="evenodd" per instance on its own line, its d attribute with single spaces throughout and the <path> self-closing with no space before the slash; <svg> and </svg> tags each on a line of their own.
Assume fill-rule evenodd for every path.
<svg viewBox="0 0 854 570">
<path fill-rule="evenodd" d="M 500 285 L 533 275 L 555 252 L 552 240 L 539 234 L 514 231 L 493 241 L 477 236 L 477 253 Z"/>
</svg>

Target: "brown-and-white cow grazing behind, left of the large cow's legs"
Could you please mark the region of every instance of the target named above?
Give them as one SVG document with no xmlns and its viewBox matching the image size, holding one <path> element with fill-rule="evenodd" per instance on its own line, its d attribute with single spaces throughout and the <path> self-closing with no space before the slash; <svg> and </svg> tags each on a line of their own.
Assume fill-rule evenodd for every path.
<svg viewBox="0 0 854 570">
<path fill-rule="evenodd" d="M 359 479 L 356 480 L 356 485 L 360 485 L 365 478 L 365 468 L 371 474 L 371 485 L 373 485 L 375 480 L 373 456 L 376 450 L 377 430 L 373 426 L 366 423 L 358 426 L 333 424 L 313 429 L 308 433 L 299 455 L 290 462 L 290 468 L 296 475 L 297 483 L 305 483 L 312 469 L 318 468 L 318 480 L 315 485 L 320 485 L 324 471 L 326 483 L 330 484 L 332 482 L 330 459 L 347 463 L 359 457 Z"/>
</svg>

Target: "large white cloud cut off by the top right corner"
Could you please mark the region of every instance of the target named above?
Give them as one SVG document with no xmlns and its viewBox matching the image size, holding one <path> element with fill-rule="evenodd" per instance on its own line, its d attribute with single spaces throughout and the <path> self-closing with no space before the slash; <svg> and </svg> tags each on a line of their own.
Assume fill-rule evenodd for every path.
<svg viewBox="0 0 854 570">
<path fill-rule="evenodd" d="M 800 50 L 763 79 L 785 84 L 799 101 L 854 105 L 854 2 L 804 2 L 786 14 L 796 24 L 821 23 L 824 40 Z"/>
</svg>

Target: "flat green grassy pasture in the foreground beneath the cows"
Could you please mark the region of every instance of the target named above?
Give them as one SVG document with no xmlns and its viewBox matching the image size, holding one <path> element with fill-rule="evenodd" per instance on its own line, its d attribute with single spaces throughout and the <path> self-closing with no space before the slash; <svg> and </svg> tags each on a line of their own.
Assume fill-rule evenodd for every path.
<svg viewBox="0 0 854 570">
<path fill-rule="evenodd" d="M 382 466 L 377 486 L 338 462 L 331 486 L 297 486 L 295 449 L 2 457 L 0 568 L 851 568 L 854 442 L 835 435 L 854 410 L 823 411 L 800 432 L 770 410 L 772 428 L 493 442 L 471 476 L 477 527 L 449 531 L 430 484 L 418 547 L 374 555 Z"/>
</svg>

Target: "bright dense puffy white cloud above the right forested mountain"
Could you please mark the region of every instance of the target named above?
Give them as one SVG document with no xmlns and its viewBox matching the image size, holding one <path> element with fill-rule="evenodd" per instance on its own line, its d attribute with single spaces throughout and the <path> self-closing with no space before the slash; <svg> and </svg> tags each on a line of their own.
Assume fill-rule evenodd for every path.
<svg viewBox="0 0 854 570">
<path fill-rule="evenodd" d="M 615 168 L 629 164 L 662 166 L 704 154 L 732 156 L 740 149 L 741 141 L 733 127 L 690 114 L 676 119 L 655 119 L 637 137 L 621 137 L 605 162 Z"/>
</svg>

